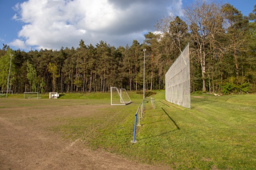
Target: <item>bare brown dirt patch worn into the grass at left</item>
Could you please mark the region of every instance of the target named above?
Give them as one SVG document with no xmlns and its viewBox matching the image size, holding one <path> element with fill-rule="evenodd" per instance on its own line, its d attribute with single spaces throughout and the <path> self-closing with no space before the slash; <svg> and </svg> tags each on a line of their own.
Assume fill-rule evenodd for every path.
<svg viewBox="0 0 256 170">
<path fill-rule="evenodd" d="M 83 142 L 62 140 L 49 130 L 56 119 L 93 114 L 84 102 L 61 103 L 38 99 L 0 99 L 1 170 L 157 170 L 165 169 L 134 161 L 103 150 L 85 148 Z"/>
</svg>

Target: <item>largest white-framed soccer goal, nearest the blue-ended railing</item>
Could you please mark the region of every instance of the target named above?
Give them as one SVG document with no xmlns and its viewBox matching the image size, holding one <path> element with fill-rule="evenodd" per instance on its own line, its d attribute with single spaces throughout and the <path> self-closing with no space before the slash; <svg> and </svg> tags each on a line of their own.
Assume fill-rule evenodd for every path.
<svg viewBox="0 0 256 170">
<path fill-rule="evenodd" d="M 111 105 L 128 105 L 131 99 L 124 88 L 111 87 Z"/>
</svg>

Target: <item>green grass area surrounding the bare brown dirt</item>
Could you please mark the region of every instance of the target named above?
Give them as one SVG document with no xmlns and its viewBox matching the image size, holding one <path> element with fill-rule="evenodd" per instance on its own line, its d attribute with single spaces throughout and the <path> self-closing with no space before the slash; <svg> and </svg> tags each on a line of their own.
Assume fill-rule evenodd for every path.
<svg viewBox="0 0 256 170">
<path fill-rule="evenodd" d="M 95 105 L 90 115 L 52 120 L 58 123 L 48 130 L 61 134 L 64 140 L 82 140 L 84 147 L 92 150 L 103 149 L 177 170 L 256 169 L 256 95 L 196 94 L 191 96 L 190 110 L 166 102 L 164 95 L 164 91 L 157 91 L 152 96 L 155 109 L 145 110 L 135 144 L 131 143 L 134 115 L 142 101 L 142 95 L 135 92 L 129 92 L 132 103 L 125 106 L 111 106 L 110 93 L 61 94 L 59 99 L 43 95 L 15 105 L 12 99 L 23 95 L 10 95 L 0 98 L 0 111 L 8 107 Z"/>
</svg>

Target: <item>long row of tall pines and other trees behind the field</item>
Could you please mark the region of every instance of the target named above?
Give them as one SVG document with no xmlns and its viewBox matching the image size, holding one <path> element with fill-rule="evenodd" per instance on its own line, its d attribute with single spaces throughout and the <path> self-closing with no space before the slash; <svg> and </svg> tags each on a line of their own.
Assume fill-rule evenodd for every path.
<svg viewBox="0 0 256 170">
<path fill-rule="evenodd" d="M 157 33 L 143 44 L 115 48 L 104 41 L 94 47 L 0 50 L 0 90 L 105 92 L 110 87 L 139 91 L 165 88 L 165 73 L 189 42 L 191 91 L 248 93 L 256 91 L 256 6 L 243 16 L 230 4 L 197 1 L 183 9 L 183 18 L 163 17 Z"/>
</svg>

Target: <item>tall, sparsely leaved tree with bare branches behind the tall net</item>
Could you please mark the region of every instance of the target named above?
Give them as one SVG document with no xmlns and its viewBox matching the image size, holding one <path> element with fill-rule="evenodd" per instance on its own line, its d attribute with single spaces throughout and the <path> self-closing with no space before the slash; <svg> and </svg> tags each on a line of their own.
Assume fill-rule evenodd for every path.
<svg viewBox="0 0 256 170">
<path fill-rule="evenodd" d="M 203 91 L 206 91 L 206 60 L 212 51 L 207 47 L 215 43 L 215 36 L 223 33 L 223 11 L 217 3 L 198 0 L 183 10 L 186 23 L 189 25 L 195 51 L 201 64 Z"/>
</svg>

